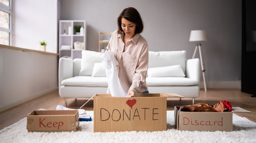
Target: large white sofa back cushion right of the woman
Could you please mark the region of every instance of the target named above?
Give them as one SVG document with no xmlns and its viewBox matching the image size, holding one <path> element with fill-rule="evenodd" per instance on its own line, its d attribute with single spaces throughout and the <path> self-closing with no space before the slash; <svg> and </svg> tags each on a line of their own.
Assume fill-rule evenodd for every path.
<svg viewBox="0 0 256 143">
<path fill-rule="evenodd" d="M 181 65 L 186 73 L 186 51 L 161 51 L 148 53 L 148 68 Z"/>
</svg>

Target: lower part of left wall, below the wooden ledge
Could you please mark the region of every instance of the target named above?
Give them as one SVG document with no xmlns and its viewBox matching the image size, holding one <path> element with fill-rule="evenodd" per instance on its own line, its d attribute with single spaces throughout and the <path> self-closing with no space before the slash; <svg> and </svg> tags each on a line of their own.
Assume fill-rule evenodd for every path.
<svg viewBox="0 0 256 143">
<path fill-rule="evenodd" d="M 0 111 L 58 88 L 58 56 L 0 47 Z"/>
</svg>

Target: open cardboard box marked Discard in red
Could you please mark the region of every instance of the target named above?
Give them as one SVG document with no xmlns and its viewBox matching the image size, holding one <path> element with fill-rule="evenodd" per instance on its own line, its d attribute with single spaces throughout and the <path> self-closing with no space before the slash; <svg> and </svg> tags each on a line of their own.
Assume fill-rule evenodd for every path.
<svg viewBox="0 0 256 143">
<path fill-rule="evenodd" d="M 182 112 L 174 107 L 174 120 L 181 131 L 232 131 L 233 112 L 248 112 L 240 107 L 232 107 L 232 112 Z"/>
</svg>

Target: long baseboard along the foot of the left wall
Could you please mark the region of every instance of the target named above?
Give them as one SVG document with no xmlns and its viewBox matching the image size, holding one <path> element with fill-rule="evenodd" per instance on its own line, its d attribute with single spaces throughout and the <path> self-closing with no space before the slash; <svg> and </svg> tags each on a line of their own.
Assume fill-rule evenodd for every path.
<svg viewBox="0 0 256 143">
<path fill-rule="evenodd" d="M 50 90 L 47 90 L 47 91 L 45 91 L 45 92 L 36 94 L 36 95 L 34 95 L 34 96 L 31 96 L 31 97 L 28 97 L 28 98 L 25 98 L 25 99 L 22 99 L 22 100 L 20 100 L 20 101 L 15 102 L 15 103 L 11 103 L 11 104 L 5 105 L 5 106 L 3 106 L 3 107 L 0 107 L 0 112 L 4 111 L 4 110 L 6 110 L 6 109 L 9 109 L 9 108 L 11 108 L 11 107 L 17 106 L 17 105 L 19 105 L 19 104 L 22 104 L 22 103 L 24 103 L 24 102 L 30 101 L 30 100 L 32 100 L 32 99 L 38 98 L 38 97 L 40 97 L 40 96 L 43 96 L 43 95 L 45 95 L 45 94 L 51 93 L 51 92 L 56 91 L 56 90 L 58 90 L 58 87 L 53 88 L 53 89 L 50 89 Z"/>
</svg>

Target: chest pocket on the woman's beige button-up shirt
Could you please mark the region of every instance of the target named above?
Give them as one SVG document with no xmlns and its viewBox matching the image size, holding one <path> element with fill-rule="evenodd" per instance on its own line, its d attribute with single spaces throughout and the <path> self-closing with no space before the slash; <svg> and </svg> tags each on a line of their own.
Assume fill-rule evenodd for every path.
<svg viewBox="0 0 256 143">
<path fill-rule="evenodd" d="M 123 54 L 125 54 L 123 59 L 123 67 L 133 71 L 137 63 L 138 57 L 130 55 L 128 53 L 123 53 Z"/>
</svg>

